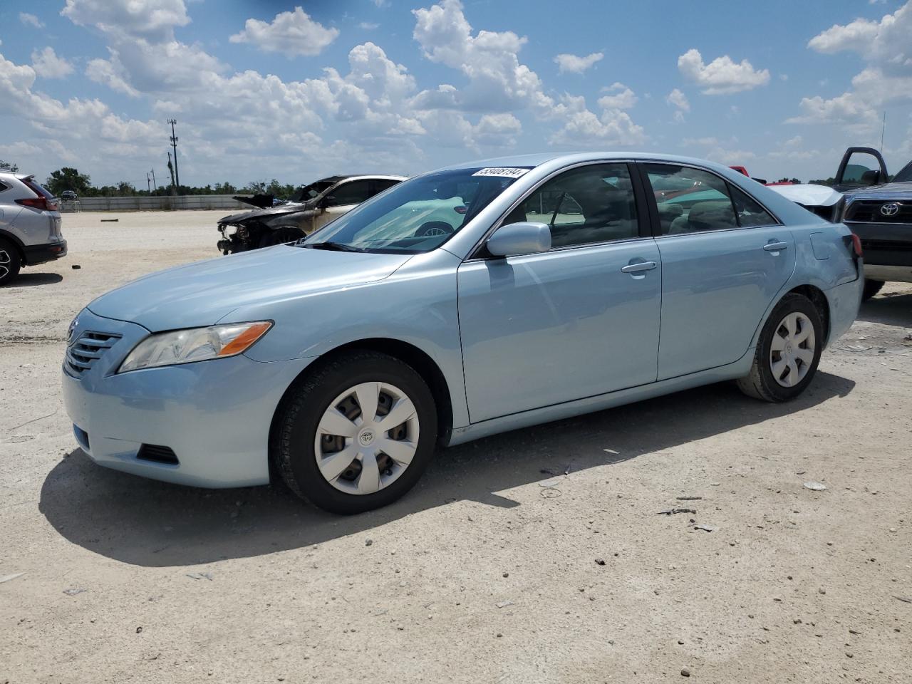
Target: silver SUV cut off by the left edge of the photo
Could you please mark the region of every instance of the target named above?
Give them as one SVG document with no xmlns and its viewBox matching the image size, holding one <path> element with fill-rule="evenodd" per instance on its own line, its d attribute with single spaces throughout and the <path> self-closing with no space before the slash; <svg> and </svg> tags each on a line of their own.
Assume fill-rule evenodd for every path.
<svg viewBox="0 0 912 684">
<path fill-rule="evenodd" d="M 34 176 L 0 169 L 0 285 L 22 266 L 67 255 L 57 200 Z"/>
</svg>

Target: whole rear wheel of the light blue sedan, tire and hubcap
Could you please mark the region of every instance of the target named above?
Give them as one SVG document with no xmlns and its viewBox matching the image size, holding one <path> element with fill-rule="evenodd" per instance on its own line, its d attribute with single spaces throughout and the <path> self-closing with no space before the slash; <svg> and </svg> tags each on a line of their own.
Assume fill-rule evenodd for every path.
<svg viewBox="0 0 912 684">
<path fill-rule="evenodd" d="M 811 384 L 823 347 L 824 325 L 814 302 L 785 295 L 763 326 L 751 372 L 738 387 L 754 399 L 794 399 Z"/>
</svg>

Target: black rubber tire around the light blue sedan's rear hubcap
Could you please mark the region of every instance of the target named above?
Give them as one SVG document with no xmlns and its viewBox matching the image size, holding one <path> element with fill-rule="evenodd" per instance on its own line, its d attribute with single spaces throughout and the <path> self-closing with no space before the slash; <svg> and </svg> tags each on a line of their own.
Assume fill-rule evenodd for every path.
<svg viewBox="0 0 912 684">
<path fill-rule="evenodd" d="M 792 313 L 800 313 L 807 316 L 814 326 L 814 359 L 800 382 L 792 387 L 784 387 L 773 377 L 769 359 L 772 354 L 772 337 L 776 335 L 785 316 Z M 770 317 L 763 325 L 760 340 L 757 343 L 757 350 L 754 353 L 751 372 L 738 380 L 738 387 L 747 396 L 761 399 L 762 401 L 782 402 L 794 399 L 814 379 L 823 348 L 824 324 L 821 320 L 820 312 L 814 306 L 814 302 L 804 295 L 794 293 L 785 295 L 779 304 L 772 309 Z"/>
</svg>

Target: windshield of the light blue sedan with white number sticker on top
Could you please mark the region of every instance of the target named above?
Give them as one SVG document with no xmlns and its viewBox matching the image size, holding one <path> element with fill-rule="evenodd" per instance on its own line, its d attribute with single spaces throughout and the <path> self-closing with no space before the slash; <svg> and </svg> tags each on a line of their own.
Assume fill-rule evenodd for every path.
<svg viewBox="0 0 912 684">
<path fill-rule="evenodd" d="M 420 254 L 445 243 L 528 168 L 437 171 L 399 183 L 298 243 Z"/>
</svg>

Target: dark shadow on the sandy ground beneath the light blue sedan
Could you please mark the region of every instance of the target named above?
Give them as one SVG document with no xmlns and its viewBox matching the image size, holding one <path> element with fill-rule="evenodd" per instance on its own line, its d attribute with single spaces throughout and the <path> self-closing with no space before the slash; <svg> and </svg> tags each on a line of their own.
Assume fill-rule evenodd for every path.
<svg viewBox="0 0 912 684">
<path fill-rule="evenodd" d="M 799 399 L 767 404 L 731 384 L 712 385 L 495 435 L 440 451 L 399 502 L 350 517 L 317 510 L 284 486 L 181 487 L 101 468 L 76 450 L 47 475 L 39 510 L 68 541 L 96 554 L 133 565 L 200 565 L 326 542 L 459 500 L 517 506 L 497 492 L 548 479 L 548 471 L 611 465 L 813 409 L 854 387 L 818 372 Z"/>
</svg>

